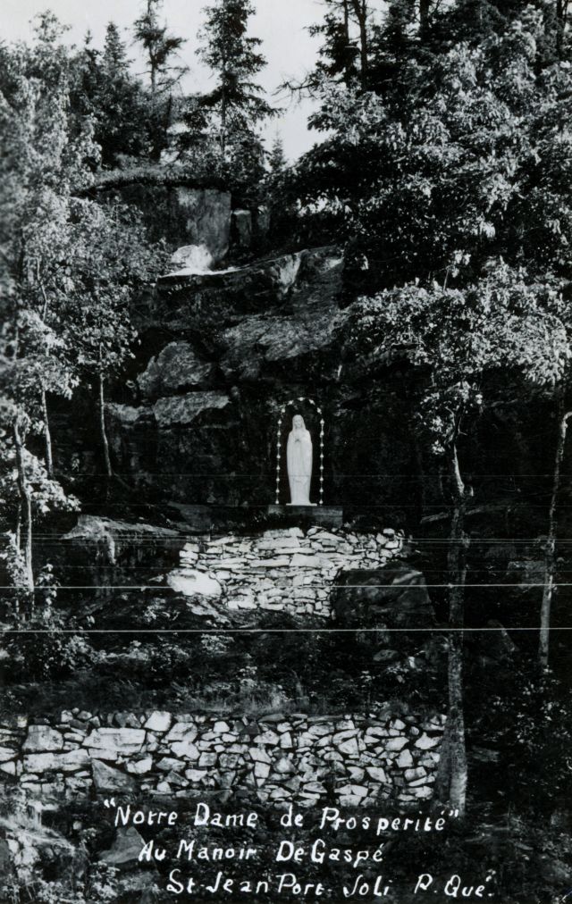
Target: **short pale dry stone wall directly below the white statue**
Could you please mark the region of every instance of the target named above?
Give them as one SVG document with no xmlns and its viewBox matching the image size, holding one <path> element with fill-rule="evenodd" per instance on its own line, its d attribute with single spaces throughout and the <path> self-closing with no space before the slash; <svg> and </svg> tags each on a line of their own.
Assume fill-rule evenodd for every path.
<svg viewBox="0 0 572 904">
<path fill-rule="evenodd" d="M 403 547 L 391 528 L 377 534 L 298 527 L 255 537 L 228 535 L 186 543 L 171 587 L 220 598 L 229 609 L 266 609 L 330 616 L 329 591 L 338 571 L 377 569 Z"/>
</svg>

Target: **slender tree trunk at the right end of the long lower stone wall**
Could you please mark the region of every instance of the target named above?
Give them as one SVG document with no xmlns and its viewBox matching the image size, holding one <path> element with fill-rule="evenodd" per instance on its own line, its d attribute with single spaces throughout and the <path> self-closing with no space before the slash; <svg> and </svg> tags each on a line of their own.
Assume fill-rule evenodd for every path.
<svg viewBox="0 0 572 904">
<path fill-rule="evenodd" d="M 465 488 L 459 469 L 457 449 L 453 444 L 449 462 L 453 477 L 453 514 L 449 532 L 447 571 L 449 580 L 449 656 L 447 685 L 449 712 L 443 746 L 445 750 L 441 793 L 453 809 L 464 815 L 467 793 L 467 753 L 462 708 L 462 626 L 464 623 L 464 585 L 467 574 L 464 532 Z"/>
</svg>

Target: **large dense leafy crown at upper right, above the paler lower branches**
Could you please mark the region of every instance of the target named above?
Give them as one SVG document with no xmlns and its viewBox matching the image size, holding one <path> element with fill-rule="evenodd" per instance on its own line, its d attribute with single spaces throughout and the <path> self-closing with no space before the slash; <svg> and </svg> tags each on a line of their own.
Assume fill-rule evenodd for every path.
<svg viewBox="0 0 572 904">
<path fill-rule="evenodd" d="M 364 286 L 466 283 L 500 256 L 567 276 L 570 62 L 541 67 L 545 39 L 529 7 L 478 44 L 405 58 L 390 88 L 320 82 L 330 135 L 295 190 L 310 231 L 352 240 Z"/>
</svg>

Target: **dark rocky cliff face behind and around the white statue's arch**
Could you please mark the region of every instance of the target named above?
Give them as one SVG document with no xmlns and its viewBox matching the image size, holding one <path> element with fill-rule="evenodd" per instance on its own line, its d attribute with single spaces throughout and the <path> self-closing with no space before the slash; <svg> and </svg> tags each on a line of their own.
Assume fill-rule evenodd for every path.
<svg viewBox="0 0 572 904">
<path fill-rule="evenodd" d="M 326 504 L 388 502 L 395 461 L 405 471 L 411 455 L 403 400 L 398 381 L 348 385 L 334 333 L 342 282 L 334 247 L 161 279 L 134 312 L 133 398 L 108 408 L 118 470 L 153 501 L 264 506 L 274 501 L 278 412 L 310 397 L 326 421 Z M 297 407 L 316 444 L 315 409 Z M 380 436 L 391 441 L 380 446 Z"/>
</svg>

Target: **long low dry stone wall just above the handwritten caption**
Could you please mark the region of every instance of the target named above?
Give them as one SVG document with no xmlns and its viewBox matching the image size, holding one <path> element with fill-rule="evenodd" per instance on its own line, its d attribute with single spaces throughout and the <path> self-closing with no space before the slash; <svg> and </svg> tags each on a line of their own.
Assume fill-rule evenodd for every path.
<svg viewBox="0 0 572 904">
<path fill-rule="evenodd" d="M 63 711 L 0 723 L 0 776 L 43 802 L 96 793 L 184 798 L 242 787 L 262 802 L 415 805 L 433 795 L 444 716 Z"/>
</svg>

